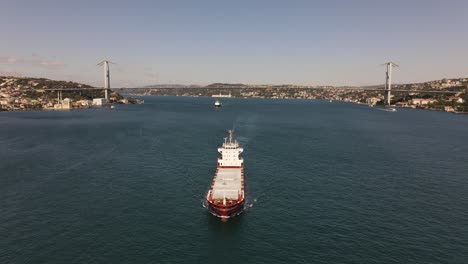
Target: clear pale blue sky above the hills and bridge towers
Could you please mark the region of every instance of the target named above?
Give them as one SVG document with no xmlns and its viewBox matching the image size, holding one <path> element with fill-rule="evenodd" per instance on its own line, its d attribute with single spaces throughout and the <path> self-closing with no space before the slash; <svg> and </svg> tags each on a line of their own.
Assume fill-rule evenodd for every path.
<svg viewBox="0 0 468 264">
<path fill-rule="evenodd" d="M 0 0 L 0 75 L 111 87 L 468 77 L 466 0 Z"/>
</svg>

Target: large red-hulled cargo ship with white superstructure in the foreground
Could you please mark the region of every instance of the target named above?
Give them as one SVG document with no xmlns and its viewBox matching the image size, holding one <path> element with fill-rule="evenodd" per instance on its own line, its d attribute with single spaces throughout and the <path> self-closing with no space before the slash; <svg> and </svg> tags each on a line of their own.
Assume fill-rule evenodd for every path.
<svg viewBox="0 0 468 264">
<path fill-rule="evenodd" d="M 229 130 L 229 139 L 224 138 L 218 148 L 216 173 L 206 195 L 209 211 L 221 218 L 230 218 L 242 212 L 245 202 L 244 159 L 240 154 L 244 149 L 233 140 L 233 130 Z"/>
</svg>

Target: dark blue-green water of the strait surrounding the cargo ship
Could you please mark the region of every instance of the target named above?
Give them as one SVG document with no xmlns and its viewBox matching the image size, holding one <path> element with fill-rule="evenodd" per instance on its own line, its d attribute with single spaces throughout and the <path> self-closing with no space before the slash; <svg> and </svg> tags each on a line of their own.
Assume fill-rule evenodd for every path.
<svg viewBox="0 0 468 264">
<path fill-rule="evenodd" d="M 0 114 L 0 263 L 468 263 L 468 116 L 145 97 Z M 234 128 L 251 206 L 203 199 Z"/>
</svg>

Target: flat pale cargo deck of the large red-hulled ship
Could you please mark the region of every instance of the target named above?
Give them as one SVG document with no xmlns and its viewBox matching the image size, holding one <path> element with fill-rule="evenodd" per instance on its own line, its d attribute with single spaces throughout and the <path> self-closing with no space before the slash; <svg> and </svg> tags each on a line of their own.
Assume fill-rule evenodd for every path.
<svg viewBox="0 0 468 264">
<path fill-rule="evenodd" d="M 213 180 L 212 199 L 239 199 L 243 184 L 242 168 L 218 168 Z"/>
</svg>

